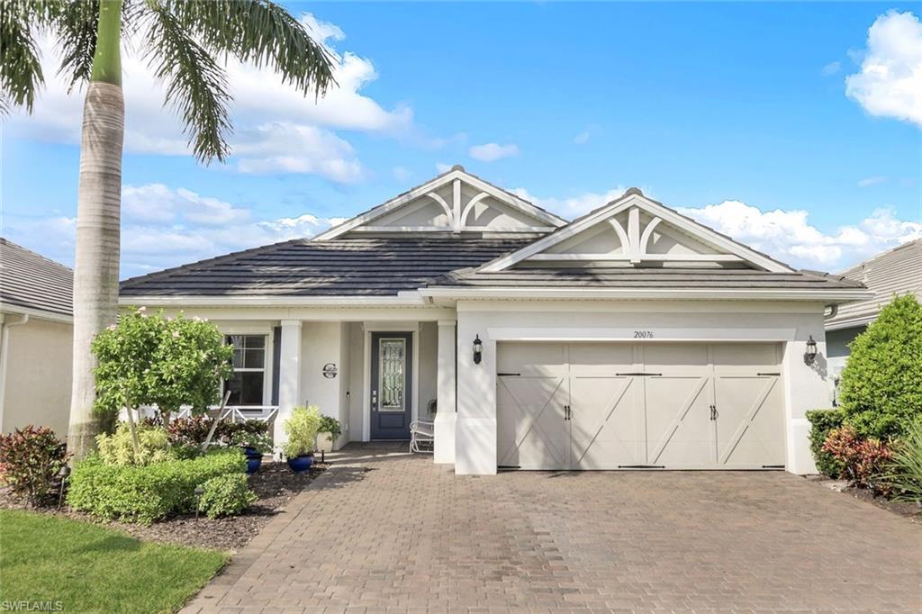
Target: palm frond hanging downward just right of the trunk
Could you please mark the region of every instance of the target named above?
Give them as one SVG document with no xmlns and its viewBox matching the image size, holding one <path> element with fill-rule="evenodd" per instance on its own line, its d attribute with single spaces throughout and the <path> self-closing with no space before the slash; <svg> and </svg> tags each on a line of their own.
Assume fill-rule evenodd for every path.
<svg viewBox="0 0 922 614">
<path fill-rule="evenodd" d="M 231 95 L 224 69 L 169 10 L 148 6 L 147 57 L 155 76 L 167 86 L 166 103 L 182 116 L 195 158 L 224 161 L 231 132 Z"/>
</svg>

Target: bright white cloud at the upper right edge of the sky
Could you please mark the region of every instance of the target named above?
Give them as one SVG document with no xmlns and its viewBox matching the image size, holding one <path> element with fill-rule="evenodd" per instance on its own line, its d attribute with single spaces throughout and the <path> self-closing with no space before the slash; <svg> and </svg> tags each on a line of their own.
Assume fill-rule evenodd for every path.
<svg viewBox="0 0 922 614">
<path fill-rule="evenodd" d="M 887 11 L 868 30 L 861 72 L 845 77 L 845 95 L 871 115 L 922 126 L 922 22 Z"/>
</svg>

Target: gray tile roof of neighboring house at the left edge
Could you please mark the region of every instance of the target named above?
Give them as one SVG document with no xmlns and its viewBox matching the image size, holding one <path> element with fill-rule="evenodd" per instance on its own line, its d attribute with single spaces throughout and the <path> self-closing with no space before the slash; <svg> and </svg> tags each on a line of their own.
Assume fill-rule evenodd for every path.
<svg viewBox="0 0 922 614">
<path fill-rule="evenodd" d="M 73 316 L 74 271 L 0 237 L 0 307 L 17 313 Z"/>
</svg>

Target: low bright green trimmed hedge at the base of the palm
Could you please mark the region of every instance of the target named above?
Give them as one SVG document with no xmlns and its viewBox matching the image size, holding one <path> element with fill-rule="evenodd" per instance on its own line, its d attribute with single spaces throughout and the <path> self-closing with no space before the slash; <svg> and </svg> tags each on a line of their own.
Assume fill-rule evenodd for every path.
<svg viewBox="0 0 922 614">
<path fill-rule="evenodd" d="M 106 465 L 90 456 L 74 467 L 67 502 L 99 518 L 149 525 L 168 514 L 194 511 L 196 486 L 245 471 L 246 457 L 235 449 L 148 466 Z"/>
</svg>

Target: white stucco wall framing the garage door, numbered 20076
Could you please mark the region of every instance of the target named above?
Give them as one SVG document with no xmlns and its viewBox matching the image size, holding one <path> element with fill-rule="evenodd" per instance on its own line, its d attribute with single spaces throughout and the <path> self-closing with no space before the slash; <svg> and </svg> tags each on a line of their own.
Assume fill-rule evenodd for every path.
<svg viewBox="0 0 922 614">
<path fill-rule="evenodd" d="M 804 412 L 828 406 L 828 364 L 820 303 L 759 301 L 461 301 L 458 303 L 458 401 L 455 471 L 496 471 L 496 343 L 498 340 L 610 340 L 636 343 L 634 331 L 658 341 L 783 342 L 788 470 L 815 471 Z M 471 341 L 483 341 L 475 365 Z M 815 364 L 803 361 L 810 337 Z"/>
</svg>

